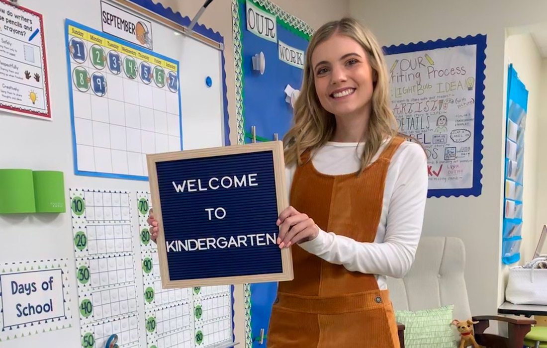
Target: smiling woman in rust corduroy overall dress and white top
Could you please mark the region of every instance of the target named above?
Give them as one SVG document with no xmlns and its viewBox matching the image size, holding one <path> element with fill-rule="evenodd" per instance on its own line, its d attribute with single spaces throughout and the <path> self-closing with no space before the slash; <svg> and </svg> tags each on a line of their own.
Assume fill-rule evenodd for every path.
<svg viewBox="0 0 547 348">
<path fill-rule="evenodd" d="M 284 144 L 277 242 L 293 246 L 294 280 L 279 283 L 267 346 L 399 347 L 386 276 L 414 261 L 427 159 L 398 136 L 381 49 L 357 21 L 312 37 Z"/>
</svg>

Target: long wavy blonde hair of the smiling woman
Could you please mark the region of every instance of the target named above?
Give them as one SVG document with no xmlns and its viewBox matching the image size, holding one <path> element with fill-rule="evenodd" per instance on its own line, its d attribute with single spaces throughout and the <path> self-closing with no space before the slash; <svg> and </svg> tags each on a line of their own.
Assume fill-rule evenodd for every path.
<svg viewBox="0 0 547 348">
<path fill-rule="evenodd" d="M 371 98 L 372 112 L 364 135 L 366 142 L 359 170 L 362 172 L 386 138 L 398 135 L 398 126 L 389 101 L 389 77 L 383 52 L 374 35 L 352 18 L 342 18 L 321 26 L 313 34 L 306 49 L 304 78 L 300 95 L 294 105 L 293 125 L 283 137 L 285 163 L 301 165 L 302 154 L 306 150 L 321 147 L 331 139 L 336 129 L 334 115 L 321 106 L 317 97 L 311 63 L 311 57 L 317 45 L 335 33 L 350 37 L 363 47 L 376 77 Z"/>
</svg>

